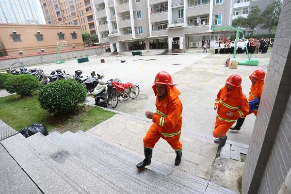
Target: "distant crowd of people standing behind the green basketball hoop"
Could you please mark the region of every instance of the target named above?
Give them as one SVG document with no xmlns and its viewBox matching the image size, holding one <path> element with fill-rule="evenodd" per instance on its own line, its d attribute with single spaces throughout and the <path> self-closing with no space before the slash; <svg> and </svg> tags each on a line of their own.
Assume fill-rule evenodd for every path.
<svg viewBox="0 0 291 194">
<path fill-rule="evenodd" d="M 258 54 L 259 52 L 266 53 L 267 50 L 269 49 L 269 46 L 271 44 L 271 39 L 267 38 L 261 38 L 259 40 L 257 39 L 239 39 L 238 44 L 237 44 L 237 52 L 236 54 L 247 54 L 246 48 L 248 49 L 248 52 L 251 54 Z M 219 38 L 218 41 L 215 42 L 214 49 L 215 49 L 215 54 L 233 54 L 234 52 L 234 47 L 235 47 L 235 42 L 231 41 L 227 38 L 222 39 L 221 37 Z M 203 51 L 204 52 L 204 51 Z"/>
</svg>

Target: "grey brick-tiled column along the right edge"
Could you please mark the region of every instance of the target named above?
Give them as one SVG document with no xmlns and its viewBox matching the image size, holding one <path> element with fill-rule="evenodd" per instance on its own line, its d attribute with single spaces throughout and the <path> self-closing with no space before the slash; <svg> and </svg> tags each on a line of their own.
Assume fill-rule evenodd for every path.
<svg viewBox="0 0 291 194">
<path fill-rule="evenodd" d="M 244 165 L 242 194 L 277 194 L 291 168 L 291 0 L 284 0 Z"/>
</svg>

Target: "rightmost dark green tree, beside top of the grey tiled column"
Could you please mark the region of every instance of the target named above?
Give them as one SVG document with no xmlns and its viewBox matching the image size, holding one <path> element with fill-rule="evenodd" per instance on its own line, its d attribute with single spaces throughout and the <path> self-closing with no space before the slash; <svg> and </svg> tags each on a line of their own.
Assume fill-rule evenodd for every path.
<svg viewBox="0 0 291 194">
<path fill-rule="evenodd" d="M 262 29 L 268 29 L 268 34 L 278 25 L 281 7 L 281 0 L 276 0 L 262 12 L 262 25 L 260 27 Z"/>
</svg>

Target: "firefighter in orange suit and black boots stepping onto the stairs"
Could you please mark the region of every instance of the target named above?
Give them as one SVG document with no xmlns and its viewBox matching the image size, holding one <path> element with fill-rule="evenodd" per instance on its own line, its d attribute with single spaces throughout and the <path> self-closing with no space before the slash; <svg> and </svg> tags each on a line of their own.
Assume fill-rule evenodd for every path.
<svg viewBox="0 0 291 194">
<path fill-rule="evenodd" d="M 156 113 L 146 111 L 146 117 L 152 119 L 153 124 L 144 137 L 145 160 L 136 165 L 138 169 L 150 164 L 153 148 L 161 137 L 175 150 L 175 165 L 179 165 L 182 158 L 182 103 L 178 97 L 181 93 L 165 71 L 156 75 L 152 88 L 156 96 Z"/>
</svg>

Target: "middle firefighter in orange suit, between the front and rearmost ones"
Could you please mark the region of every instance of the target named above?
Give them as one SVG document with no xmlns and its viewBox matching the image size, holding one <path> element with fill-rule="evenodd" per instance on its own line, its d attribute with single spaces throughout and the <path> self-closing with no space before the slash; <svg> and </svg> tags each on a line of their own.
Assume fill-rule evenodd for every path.
<svg viewBox="0 0 291 194">
<path fill-rule="evenodd" d="M 239 116 L 249 112 L 247 98 L 242 93 L 242 78 L 240 75 L 231 75 L 226 80 L 226 84 L 220 89 L 214 103 L 214 110 L 217 110 L 215 129 L 212 134 L 214 142 L 223 147 L 226 144 L 226 132 Z"/>
</svg>

